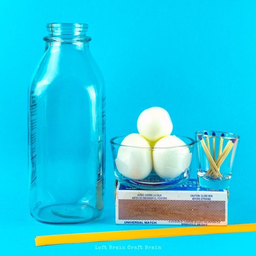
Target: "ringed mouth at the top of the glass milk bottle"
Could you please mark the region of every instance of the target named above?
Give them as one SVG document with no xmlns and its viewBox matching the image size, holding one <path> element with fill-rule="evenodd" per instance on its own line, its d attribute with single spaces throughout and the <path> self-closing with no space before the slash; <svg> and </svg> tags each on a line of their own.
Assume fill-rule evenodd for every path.
<svg viewBox="0 0 256 256">
<path fill-rule="evenodd" d="M 49 35 L 86 35 L 86 23 L 48 23 L 46 25 Z"/>
</svg>

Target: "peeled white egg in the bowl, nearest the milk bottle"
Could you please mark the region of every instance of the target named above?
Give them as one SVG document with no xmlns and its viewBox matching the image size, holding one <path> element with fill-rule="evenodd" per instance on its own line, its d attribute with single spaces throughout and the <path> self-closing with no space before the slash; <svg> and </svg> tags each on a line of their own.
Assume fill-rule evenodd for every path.
<svg viewBox="0 0 256 256">
<path fill-rule="evenodd" d="M 152 171 L 152 150 L 140 134 L 129 134 L 122 141 L 115 164 L 122 175 L 135 180 L 144 179 Z M 130 146 L 130 147 L 127 147 Z"/>
</svg>

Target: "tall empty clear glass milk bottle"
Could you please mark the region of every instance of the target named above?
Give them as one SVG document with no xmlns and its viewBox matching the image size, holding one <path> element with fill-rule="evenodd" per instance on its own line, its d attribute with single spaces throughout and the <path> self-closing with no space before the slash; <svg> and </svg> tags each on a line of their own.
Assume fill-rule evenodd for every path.
<svg viewBox="0 0 256 256">
<path fill-rule="evenodd" d="M 47 223 L 100 216 L 105 172 L 105 91 L 88 25 L 47 24 L 29 89 L 30 213 Z"/>
</svg>

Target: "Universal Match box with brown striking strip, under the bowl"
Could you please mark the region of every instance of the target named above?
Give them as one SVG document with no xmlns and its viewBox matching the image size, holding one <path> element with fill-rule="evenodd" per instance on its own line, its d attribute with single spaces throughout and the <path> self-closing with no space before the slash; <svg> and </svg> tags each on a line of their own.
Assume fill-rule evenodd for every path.
<svg viewBox="0 0 256 256">
<path fill-rule="evenodd" d="M 205 189 L 196 179 L 172 189 L 115 184 L 116 224 L 226 226 L 228 190 Z"/>
</svg>

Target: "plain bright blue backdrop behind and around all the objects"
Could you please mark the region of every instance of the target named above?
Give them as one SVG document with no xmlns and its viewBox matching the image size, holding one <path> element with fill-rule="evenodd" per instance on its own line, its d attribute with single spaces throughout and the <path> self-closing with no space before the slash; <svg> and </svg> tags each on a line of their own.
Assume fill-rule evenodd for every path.
<svg viewBox="0 0 256 256">
<path fill-rule="evenodd" d="M 109 140 L 136 132 L 139 113 L 167 109 L 174 134 L 223 130 L 241 136 L 228 223 L 255 223 L 255 1 L 1 1 L 0 254 L 95 255 L 95 245 L 157 245 L 168 255 L 246 255 L 254 233 L 35 247 L 48 234 L 152 228 L 114 223 Z M 93 223 L 49 225 L 28 209 L 27 93 L 43 54 L 47 22 L 86 22 L 107 87 L 105 210 Z M 196 176 L 195 165 L 192 176 Z M 154 226 L 159 228 L 160 226 Z M 167 227 L 167 226 L 165 226 Z M 106 250 L 117 255 L 119 251 Z M 123 250 L 124 255 L 141 251 Z M 143 253 L 146 253 L 144 250 Z M 154 250 L 148 250 L 155 255 Z"/>
</svg>

